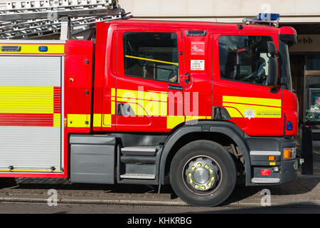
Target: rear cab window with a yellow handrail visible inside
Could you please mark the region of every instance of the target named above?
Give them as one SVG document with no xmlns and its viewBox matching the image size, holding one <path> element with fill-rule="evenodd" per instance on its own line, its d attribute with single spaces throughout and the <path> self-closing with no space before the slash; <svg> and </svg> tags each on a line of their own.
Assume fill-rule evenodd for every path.
<svg viewBox="0 0 320 228">
<path fill-rule="evenodd" d="M 178 83 L 176 33 L 124 33 L 124 75 Z"/>
</svg>

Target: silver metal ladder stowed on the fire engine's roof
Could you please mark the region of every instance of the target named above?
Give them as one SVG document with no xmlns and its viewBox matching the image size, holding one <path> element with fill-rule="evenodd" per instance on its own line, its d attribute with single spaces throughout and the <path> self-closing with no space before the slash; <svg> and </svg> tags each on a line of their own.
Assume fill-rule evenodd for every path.
<svg viewBox="0 0 320 228">
<path fill-rule="evenodd" d="M 10 1 L 0 8 L 0 39 L 90 39 L 97 22 L 131 17 L 117 0 Z"/>
</svg>

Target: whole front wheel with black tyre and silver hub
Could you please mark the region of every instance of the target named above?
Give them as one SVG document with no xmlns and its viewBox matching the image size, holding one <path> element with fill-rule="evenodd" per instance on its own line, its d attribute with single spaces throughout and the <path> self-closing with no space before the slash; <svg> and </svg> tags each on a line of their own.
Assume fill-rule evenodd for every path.
<svg viewBox="0 0 320 228">
<path fill-rule="evenodd" d="M 171 161 L 170 182 L 176 195 L 188 204 L 214 207 L 233 192 L 235 162 L 216 142 L 190 142 L 178 150 Z"/>
</svg>

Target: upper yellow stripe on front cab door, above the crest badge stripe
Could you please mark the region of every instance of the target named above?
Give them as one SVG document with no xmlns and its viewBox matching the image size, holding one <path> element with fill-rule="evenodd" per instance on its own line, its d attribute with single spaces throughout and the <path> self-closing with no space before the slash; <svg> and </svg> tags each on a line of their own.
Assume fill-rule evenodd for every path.
<svg viewBox="0 0 320 228">
<path fill-rule="evenodd" d="M 224 95 L 223 102 L 242 103 L 242 104 L 250 104 L 250 105 L 267 105 L 267 106 L 274 106 L 279 108 L 281 107 L 281 99 L 270 99 L 270 98 L 247 98 L 247 97 L 234 97 L 234 96 Z"/>
</svg>

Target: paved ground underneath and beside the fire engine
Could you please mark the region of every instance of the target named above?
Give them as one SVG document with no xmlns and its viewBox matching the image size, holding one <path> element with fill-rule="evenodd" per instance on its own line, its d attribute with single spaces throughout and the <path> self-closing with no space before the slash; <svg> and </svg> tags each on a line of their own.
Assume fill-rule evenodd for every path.
<svg viewBox="0 0 320 228">
<path fill-rule="evenodd" d="M 87 185 L 72 184 L 67 179 L 1 178 L 0 203 L 47 203 L 49 190 L 57 193 L 58 204 L 144 205 L 189 207 L 178 198 L 170 185 Z M 273 207 L 320 207 L 320 148 L 314 152 L 314 175 L 299 175 L 286 185 L 245 187 L 238 184 L 223 206 L 260 207 L 263 192 L 270 192 Z"/>
</svg>

